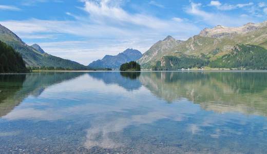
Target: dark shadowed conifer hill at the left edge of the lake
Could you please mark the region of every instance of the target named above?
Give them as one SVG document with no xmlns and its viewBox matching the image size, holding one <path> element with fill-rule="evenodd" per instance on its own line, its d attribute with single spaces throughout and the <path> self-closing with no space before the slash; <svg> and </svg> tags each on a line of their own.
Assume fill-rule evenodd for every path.
<svg viewBox="0 0 267 154">
<path fill-rule="evenodd" d="M 20 53 L 0 41 L 0 73 L 27 71 Z"/>
</svg>

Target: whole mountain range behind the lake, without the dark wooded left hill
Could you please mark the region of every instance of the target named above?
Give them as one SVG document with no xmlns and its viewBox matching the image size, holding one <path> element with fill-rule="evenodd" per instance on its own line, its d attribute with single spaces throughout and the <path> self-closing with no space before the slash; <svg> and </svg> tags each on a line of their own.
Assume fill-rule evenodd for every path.
<svg viewBox="0 0 267 154">
<path fill-rule="evenodd" d="M 88 66 L 46 53 L 39 45 L 24 43 L 15 33 L 0 25 L 0 41 L 19 52 L 27 67 L 65 69 L 118 69 L 123 63 L 137 61 L 142 69 L 177 70 L 181 68 L 267 69 L 267 21 L 247 23 L 241 27 L 218 25 L 205 28 L 186 41 L 167 36 L 144 54 L 126 49 L 118 55 L 105 55 Z M 231 63 L 231 65 L 228 65 Z"/>
</svg>

